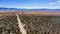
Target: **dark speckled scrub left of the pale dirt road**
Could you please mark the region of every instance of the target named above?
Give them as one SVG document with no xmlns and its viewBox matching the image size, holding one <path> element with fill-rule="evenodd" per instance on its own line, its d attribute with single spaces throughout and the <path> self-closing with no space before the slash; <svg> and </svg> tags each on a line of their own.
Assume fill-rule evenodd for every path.
<svg viewBox="0 0 60 34">
<path fill-rule="evenodd" d="M 15 15 L 0 16 L 0 34 L 21 34 Z"/>
</svg>

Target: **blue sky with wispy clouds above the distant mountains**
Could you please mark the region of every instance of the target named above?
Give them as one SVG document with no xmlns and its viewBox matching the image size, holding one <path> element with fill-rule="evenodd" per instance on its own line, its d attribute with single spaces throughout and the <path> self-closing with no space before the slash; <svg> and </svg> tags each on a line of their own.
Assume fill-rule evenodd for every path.
<svg viewBox="0 0 60 34">
<path fill-rule="evenodd" d="M 60 9 L 60 0 L 0 0 L 0 7 Z"/>
</svg>

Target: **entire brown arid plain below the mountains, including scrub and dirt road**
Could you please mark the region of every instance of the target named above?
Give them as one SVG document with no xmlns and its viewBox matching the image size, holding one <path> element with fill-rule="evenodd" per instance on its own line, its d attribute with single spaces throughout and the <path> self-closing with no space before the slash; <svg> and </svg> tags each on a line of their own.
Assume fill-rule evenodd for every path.
<svg viewBox="0 0 60 34">
<path fill-rule="evenodd" d="M 60 12 L 0 11 L 0 34 L 60 34 Z"/>
</svg>

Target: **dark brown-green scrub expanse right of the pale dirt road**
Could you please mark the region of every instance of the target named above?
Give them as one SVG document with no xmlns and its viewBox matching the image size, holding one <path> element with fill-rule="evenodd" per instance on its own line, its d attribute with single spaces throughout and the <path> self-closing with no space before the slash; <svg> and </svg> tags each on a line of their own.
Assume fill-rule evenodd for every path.
<svg viewBox="0 0 60 34">
<path fill-rule="evenodd" d="M 27 34 L 59 34 L 60 32 L 60 16 L 20 15 L 20 19 L 26 24 Z"/>
</svg>

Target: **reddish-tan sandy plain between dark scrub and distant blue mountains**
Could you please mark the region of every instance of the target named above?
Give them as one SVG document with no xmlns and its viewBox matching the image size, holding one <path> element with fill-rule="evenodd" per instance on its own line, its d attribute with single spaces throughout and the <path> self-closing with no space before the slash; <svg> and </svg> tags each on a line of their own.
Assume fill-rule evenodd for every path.
<svg viewBox="0 0 60 34">
<path fill-rule="evenodd" d="M 59 15 L 60 16 L 60 12 L 54 12 L 54 11 L 49 11 L 49 12 L 47 12 L 47 11 L 44 11 L 44 12 L 42 12 L 42 11 L 40 11 L 40 12 L 37 12 L 37 11 L 0 11 L 0 14 L 7 14 L 7 15 L 9 15 L 9 14 L 26 14 L 26 15 L 44 15 L 44 16 L 46 16 L 46 15 Z"/>
</svg>

